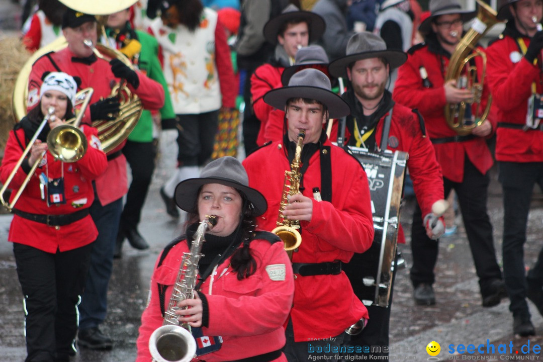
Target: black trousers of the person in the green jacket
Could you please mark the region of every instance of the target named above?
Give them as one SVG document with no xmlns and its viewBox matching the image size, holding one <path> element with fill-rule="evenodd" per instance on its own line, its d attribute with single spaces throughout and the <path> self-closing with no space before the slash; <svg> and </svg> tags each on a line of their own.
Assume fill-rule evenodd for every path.
<svg viewBox="0 0 543 362">
<path fill-rule="evenodd" d="M 155 170 L 156 146 L 153 142 L 127 141 L 123 154 L 130 165 L 132 182 L 121 214 L 121 224 L 136 227 L 140 223 L 141 211 Z"/>
</svg>

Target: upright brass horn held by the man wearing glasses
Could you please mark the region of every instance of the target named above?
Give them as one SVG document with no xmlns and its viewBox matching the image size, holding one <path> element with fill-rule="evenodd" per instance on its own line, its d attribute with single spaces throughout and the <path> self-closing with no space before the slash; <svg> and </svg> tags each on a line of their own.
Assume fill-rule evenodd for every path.
<svg viewBox="0 0 543 362">
<path fill-rule="evenodd" d="M 445 73 L 445 82 L 456 80 L 457 87 L 467 87 L 473 92 L 473 99 L 471 101 L 463 101 L 459 104 L 447 103 L 445 105 L 445 121 L 447 125 L 461 136 L 470 134 L 474 128 L 484 122 L 488 117 L 490 104 L 492 103 L 492 97 L 489 94 L 487 106 L 482 110 L 481 98 L 487 71 L 487 56 L 481 50 L 477 49 L 476 45 L 479 39 L 500 21 L 497 19 L 494 9 L 481 0 L 475 1 L 479 4 L 477 17 L 473 20 L 468 32 L 460 39 Z M 478 82 L 476 79 L 477 67 L 470 65 L 470 61 L 476 56 L 481 56 L 483 61 L 481 79 Z M 475 111 L 472 111 L 474 104 Z"/>
</svg>

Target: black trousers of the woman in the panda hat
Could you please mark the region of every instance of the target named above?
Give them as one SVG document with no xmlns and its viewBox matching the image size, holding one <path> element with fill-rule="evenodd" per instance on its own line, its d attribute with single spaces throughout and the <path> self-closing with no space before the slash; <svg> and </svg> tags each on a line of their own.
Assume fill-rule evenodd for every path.
<svg viewBox="0 0 543 362">
<path fill-rule="evenodd" d="M 92 246 L 52 254 L 13 244 L 26 311 L 26 362 L 67 360 L 75 352 L 77 305 Z"/>
</svg>

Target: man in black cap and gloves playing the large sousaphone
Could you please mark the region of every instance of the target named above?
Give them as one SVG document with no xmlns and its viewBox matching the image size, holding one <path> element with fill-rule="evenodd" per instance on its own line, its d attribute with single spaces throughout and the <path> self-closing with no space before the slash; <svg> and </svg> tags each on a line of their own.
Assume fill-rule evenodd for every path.
<svg viewBox="0 0 543 362">
<path fill-rule="evenodd" d="M 118 59 L 108 63 L 98 58 L 92 48 L 84 44 L 85 40 L 90 40 L 93 46 L 96 45 L 98 35 L 96 18 L 93 15 L 68 9 L 62 18 L 62 33 L 68 46 L 42 56 L 32 67 L 28 84 L 29 109 L 37 105 L 41 77 L 47 71 L 62 71 L 77 76 L 81 79 L 81 88 L 94 89 L 83 123 L 88 124 L 99 119 L 113 120 L 117 117 L 119 101 L 110 97 L 110 93 L 120 78 L 125 79 L 128 89 L 140 97 L 144 108 L 158 110 L 162 107 L 164 91 L 159 83 L 132 70 Z M 108 153 L 108 168 L 96 179 L 96 198 L 90 207 L 98 237 L 94 242 L 89 276 L 79 306 L 79 345 L 93 349 L 112 347 L 111 339 L 100 332 L 98 325 L 104 321 L 106 315 L 113 248 L 122 212 L 122 198 L 128 189 L 127 161 L 121 152 L 123 145 L 124 142 Z"/>
</svg>

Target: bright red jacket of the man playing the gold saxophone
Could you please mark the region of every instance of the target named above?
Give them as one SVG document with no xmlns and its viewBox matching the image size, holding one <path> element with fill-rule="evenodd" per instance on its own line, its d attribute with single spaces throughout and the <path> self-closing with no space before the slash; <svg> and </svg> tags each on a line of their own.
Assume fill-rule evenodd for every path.
<svg viewBox="0 0 543 362">
<path fill-rule="evenodd" d="M 311 221 L 300 221 L 302 244 L 293 253 L 294 263 L 349 262 L 354 252 L 364 252 L 374 238 L 368 178 L 360 164 L 327 139 L 332 166 L 332 202 L 313 201 Z M 249 186 L 259 190 L 268 209 L 257 219 L 271 231 L 276 226 L 279 203 L 290 163 L 282 142 L 257 150 L 243 161 Z M 313 198 L 313 187 L 321 187 L 319 152 L 313 154 L 303 177 L 303 194 Z M 291 318 L 294 340 L 337 336 L 368 311 L 352 291 L 342 271 L 338 275 L 296 275 Z"/>
</svg>

